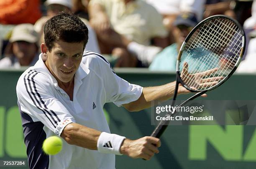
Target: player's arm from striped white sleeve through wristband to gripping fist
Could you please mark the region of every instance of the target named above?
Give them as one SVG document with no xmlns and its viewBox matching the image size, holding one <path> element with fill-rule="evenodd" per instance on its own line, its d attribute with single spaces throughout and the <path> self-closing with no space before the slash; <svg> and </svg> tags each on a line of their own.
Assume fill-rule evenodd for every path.
<svg viewBox="0 0 256 169">
<path fill-rule="evenodd" d="M 149 144 L 156 144 L 148 137 L 135 141 L 123 136 L 108 134 L 77 124 L 67 108 L 54 96 L 54 86 L 44 73 L 26 71 L 18 80 L 16 93 L 20 111 L 40 121 L 44 126 L 61 136 L 68 144 L 74 144 L 87 149 L 98 150 L 101 153 L 126 154 L 133 158 L 150 159 L 156 151 Z M 125 139 L 125 140 L 124 140 Z M 111 141 L 112 146 L 104 146 Z M 113 149 L 108 149 L 113 147 Z M 120 149 L 120 147 L 122 149 Z M 149 154 L 149 155 L 148 155 Z"/>
</svg>

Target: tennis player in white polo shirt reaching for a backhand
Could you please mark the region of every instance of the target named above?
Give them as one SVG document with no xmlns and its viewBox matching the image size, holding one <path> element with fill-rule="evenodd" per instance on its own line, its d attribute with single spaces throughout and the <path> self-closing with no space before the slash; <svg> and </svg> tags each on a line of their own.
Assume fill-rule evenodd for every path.
<svg viewBox="0 0 256 169">
<path fill-rule="evenodd" d="M 143 88 L 118 77 L 101 55 L 87 51 L 88 29 L 74 15 L 61 13 L 44 26 L 38 62 L 17 84 L 18 106 L 30 169 L 115 169 L 115 154 L 151 159 L 159 139 L 130 140 L 110 134 L 103 114 L 113 102 L 128 111 L 172 97 L 175 83 Z M 180 86 L 179 93 L 188 93 Z M 62 151 L 43 153 L 44 139 L 58 135 Z M 156 146 L 154 146 L 154 145 Z"/>
</svg>

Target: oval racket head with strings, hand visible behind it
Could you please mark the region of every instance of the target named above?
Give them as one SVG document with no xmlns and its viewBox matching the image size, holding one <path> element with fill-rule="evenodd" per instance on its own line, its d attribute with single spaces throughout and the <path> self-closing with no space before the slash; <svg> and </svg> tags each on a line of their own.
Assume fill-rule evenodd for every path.
<svg viewBox="0 0 256 169">
<path fill-rule="evenodd" d="M 198 23 L 179 50 L 179 82 L 192 92 L 217 88 L 236 71 L 246 46 L 238 21 L 213 15 Z"/>
</svg>

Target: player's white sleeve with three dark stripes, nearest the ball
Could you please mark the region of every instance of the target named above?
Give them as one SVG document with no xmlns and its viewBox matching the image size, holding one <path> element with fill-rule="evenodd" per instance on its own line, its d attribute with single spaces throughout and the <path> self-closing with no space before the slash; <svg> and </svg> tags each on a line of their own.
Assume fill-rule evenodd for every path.
<svg viewBox="0 0 256 169">
<path fill-rule="evenodd" d="M 20 111 L 41 121 L 58 136 L 67 124 L 75 123 L 67 108 L 54 96 L 54 86 L 49 77 L 35 70 L 20 76 L 16 92 Z"/>
</svg>

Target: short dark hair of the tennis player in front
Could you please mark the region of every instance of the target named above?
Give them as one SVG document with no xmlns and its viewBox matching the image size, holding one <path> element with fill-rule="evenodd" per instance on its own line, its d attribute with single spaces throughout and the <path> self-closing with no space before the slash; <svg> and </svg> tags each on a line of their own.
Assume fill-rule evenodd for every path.
<svg viewBox="0 0 256 169">
<path fill-rule="evenodd" d="M 44 25 L 44 42 L 49 52 L 57 40 L 68 43 L 84 42 L 85 48 L 88 28 L 77 16 L 62 12 L 47 20 Z"/>
</svg>

